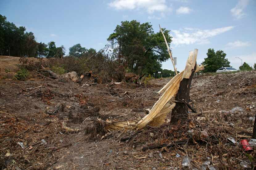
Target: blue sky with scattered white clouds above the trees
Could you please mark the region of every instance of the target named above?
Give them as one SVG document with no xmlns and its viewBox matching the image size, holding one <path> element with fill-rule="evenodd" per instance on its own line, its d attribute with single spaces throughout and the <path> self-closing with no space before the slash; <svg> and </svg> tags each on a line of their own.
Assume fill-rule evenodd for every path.
<svg viewBox="0 0 256 170">
<path fill-rule="evenodd" d="M 179 71 L 185 67 L 188 52 L 198 49 L 197 62 L 208 48 L 224 50 L 234 68 L 241 60 L 256 63 L 255 0 L 108 0 L 108 1 L 0 1 L 0 14 L 17 26 L 35 33 L 38 42 L 55 41 L 68 48 L 80 43 L 97 50 L 121 21 L 151 22 L 155 32 L 171 30 L 173 56 Z M 163 63 L 171 69 L 171 61 Z"/>
</svg>

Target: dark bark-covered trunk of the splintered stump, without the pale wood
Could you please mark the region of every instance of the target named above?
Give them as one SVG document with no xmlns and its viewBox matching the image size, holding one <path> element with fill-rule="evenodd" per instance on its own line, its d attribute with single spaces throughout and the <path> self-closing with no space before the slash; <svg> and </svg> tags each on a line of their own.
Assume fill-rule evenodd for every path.
<svg viewBox="0 0 256 170">
<path fill-rule="evenodd" d="M 172 109 L 171 123 L 177 123 L 179 120 L 186 121 L 188 119 L 188 106 L 185 103 L 189 103 L 190 101 L 190 86 L 195 71 L 196 64 L 189 79 L 184 78 L 180 82 L 179 90 L 177 92 L 177 95 L 175 96 L 175 100 L 180 102 L 177 102 L 175 107 Z M 183 101 L 185 103 L 182 103 Z"/>
</svg>

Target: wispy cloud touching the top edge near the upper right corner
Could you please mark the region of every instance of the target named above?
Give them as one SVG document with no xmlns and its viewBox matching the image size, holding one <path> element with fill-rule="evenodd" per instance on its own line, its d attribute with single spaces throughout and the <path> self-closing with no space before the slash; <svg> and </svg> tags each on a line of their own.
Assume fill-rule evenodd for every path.
<svg viewBox="0 0 256 170">
<path fill-rule="evenodd" d="M 248 5 L 249 0 L 239 0 L 237 5 L 230 10 L 233 17 L 236 19 L 241 19 L 246 16 L 246 14 L 243 12 L 243 10 Z"/>
</svg>

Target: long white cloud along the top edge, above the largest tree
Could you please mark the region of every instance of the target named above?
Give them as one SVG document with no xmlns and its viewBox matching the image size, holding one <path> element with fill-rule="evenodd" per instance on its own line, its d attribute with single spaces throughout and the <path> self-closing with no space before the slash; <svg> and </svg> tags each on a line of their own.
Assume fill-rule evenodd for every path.
<svg viewBox="0 0 256 170">
<path fill-rule="evenodd" d="M 165 0 L 114 0 L 108 5 L 117 10 L 146 9 L 150 14 L 170 10 Z"/>
</svg>

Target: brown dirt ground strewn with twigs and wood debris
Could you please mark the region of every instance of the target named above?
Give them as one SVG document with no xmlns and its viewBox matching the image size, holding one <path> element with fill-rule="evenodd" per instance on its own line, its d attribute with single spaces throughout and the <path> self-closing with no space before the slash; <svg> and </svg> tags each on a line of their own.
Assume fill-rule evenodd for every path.
<svg viewBox="0 0 256 170">
<path fill-rule="evenodd" d="M 97 120 L 144 117 L 170 79 L 82 86 L 30 72 L 20 81 L 13 79 L 16 64 L 19 58 L 0 56 L 0 169 L 182 169 L 186 154 L 198 169 L 204 161 L 216 169 L 243 169 L 243 161 L 254 166 L 255 151 L 239 143 L 252 137 L 256 71 L 195 76 L 190 93 L 198 113 L 189 113 L 188 122 L 147 127 L 120 141 L 135 132 L 88 133 L 88 127 Z M 67 132 L 63 122 L 77 130 Z M 206 130 L 209 140 L 142 151 L 185 139 L 188 130 Z"/>
</svg>

